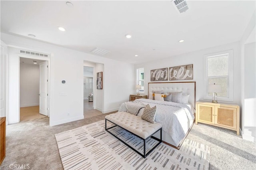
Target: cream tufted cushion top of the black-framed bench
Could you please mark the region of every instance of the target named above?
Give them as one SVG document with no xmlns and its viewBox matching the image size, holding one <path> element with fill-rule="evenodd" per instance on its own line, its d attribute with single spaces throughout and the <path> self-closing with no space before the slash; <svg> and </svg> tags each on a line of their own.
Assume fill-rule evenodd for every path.
<svg viewBox="0 0 256 170">
<path fill-rule="evenodd" d="M 126 112 L 113 113 L 105 116 L 105 119 L 144 139 L 148 138 L 162 127 L 160 123 L 150 123 Z"/>
</svg>

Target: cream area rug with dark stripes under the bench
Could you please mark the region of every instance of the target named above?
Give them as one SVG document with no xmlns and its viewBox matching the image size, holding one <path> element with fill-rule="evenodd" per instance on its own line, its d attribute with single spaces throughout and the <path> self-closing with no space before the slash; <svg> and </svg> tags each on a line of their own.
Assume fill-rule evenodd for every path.
<svg viewBox="0 0 256 170">
<path fill-rule="evenodd" d="M 143 143 L 139 138 L 118 127 L 112 132 L 142 151 Z M 161 143 L 143 158 L 106 132 L 104 120 L 55 134 L 55 137 L 64 170 L 209 169 L 210 148 L 204 144 L 185 139 L 177 150 Z M 150 138 L 147 147 L 151 148 L 156 143 Z"/>
</svg>

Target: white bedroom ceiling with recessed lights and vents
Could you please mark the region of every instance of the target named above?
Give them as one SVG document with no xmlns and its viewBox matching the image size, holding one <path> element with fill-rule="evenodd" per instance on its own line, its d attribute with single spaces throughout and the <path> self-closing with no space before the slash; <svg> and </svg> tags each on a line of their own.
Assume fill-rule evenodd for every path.
<svg viewBox="0 0 256 170">
<path fill-rule="evenodd" d="M 190 0 L 182 14 L 171 0 L 70 2 L 1 0 L 1 32 L 86 53 L 98 47 L 110 51 L 102 57 L 142 63 L 237 42 L 255 11 L 255 1 L 244 0 Z"/>
</svg>

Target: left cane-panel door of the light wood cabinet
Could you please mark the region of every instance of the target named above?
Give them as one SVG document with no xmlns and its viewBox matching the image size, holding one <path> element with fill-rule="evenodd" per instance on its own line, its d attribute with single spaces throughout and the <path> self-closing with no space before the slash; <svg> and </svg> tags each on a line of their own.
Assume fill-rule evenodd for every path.
<svg viewBox="0 0 256 170">
<path fill-rule="evenodd" d="M 198 121 L 214 123 L 214 106 L 198 104 Z"/>
</svg>

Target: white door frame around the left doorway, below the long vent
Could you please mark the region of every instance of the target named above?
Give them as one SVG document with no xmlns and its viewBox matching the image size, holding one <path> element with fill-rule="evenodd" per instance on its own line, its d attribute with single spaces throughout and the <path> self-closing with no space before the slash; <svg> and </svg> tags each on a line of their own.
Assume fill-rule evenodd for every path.
<svg viewBox="0 0 256 170">
<path fill-rule="evenodd" d="M 26 55 L 26 54 L 21 54 L 18 53 L 19 59 L 20 57 L 22 58 L 29 58 L 29 59 L 39 59 L 39 60 L 44 60 L 44 61 L 48 61 L 48 117 L 50 117 L 50 54 L 48 55 L 49 57 L 36 57 L 36 56 L 32 56 L 32 55 Z M 20 108 L 20 64 L 18 65 L 18 69 L 19 69 L 19 91 L 18 91 L 18 97 L 19 97 L 19 108 Z M 20 122 L 20 109 L 19 109 L 19 122 Z"/>
</svg>

